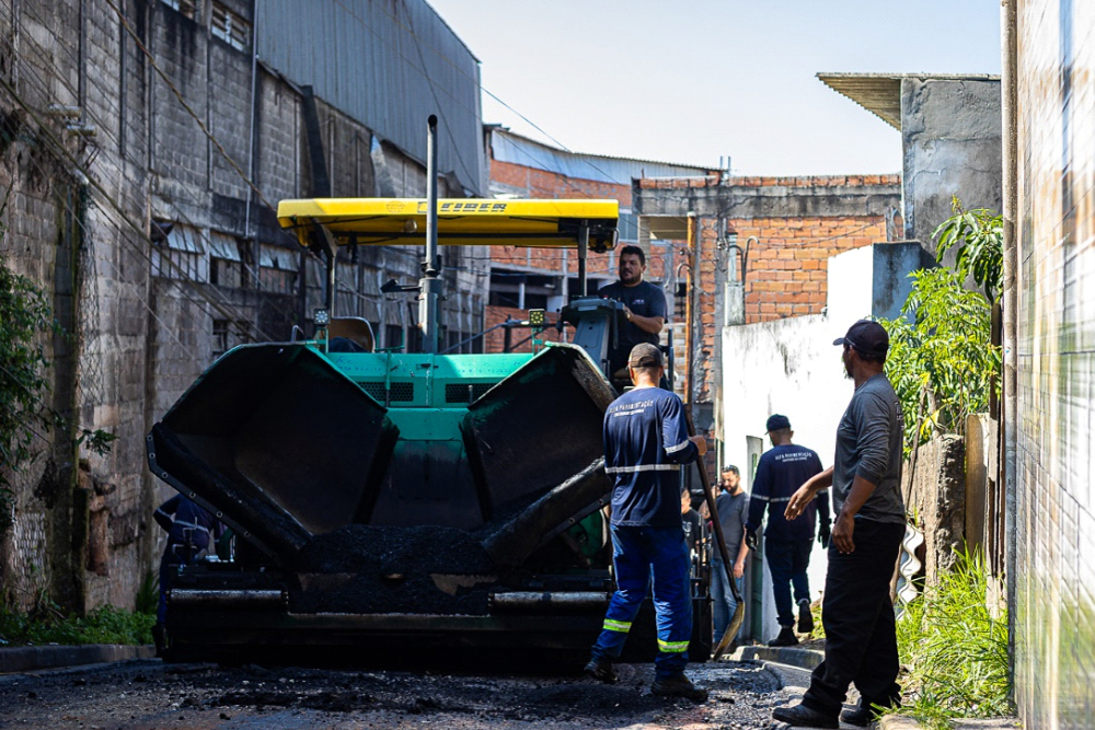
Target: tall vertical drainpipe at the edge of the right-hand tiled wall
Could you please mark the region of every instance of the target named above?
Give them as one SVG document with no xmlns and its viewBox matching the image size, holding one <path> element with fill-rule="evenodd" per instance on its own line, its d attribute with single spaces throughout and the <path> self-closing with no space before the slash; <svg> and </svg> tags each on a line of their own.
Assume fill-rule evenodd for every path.
<svg viewBox="0 0 1095 730">
<path fill-rule="evenodd" d="M 1000 27 L 1003 33 L 1001 54 L 1003 58 L 1000 79 L 1000 109 L 1002 114 L 1003 150 L 1003 204 L 1004 204 L 1004 242 L 1003 242 L 1003 424 L 999 432 L 1003 445 L 1003 459 L 1000 467 L 1002 479 L 996 484 L 1004 485 L 1004 571 L 1007 590 L 1007 654 L 1011 657 L 1012 703 L 1014 704 L 1015 687 L 1015 615 L 1016 615 L 1016 514 L 1015 454 L 1017 445 L 1018 407 L 1016 403 L 1016 315 L 1018 313 L 1018 248 L 1016 241 L 1015 219 L 1018 213 L 1018 126 L 1016 112 L 1018 109 L 1017 85 L 1017 18 L 1016 0 L 1003 0 L 1000 5 Z"/>
</svg>

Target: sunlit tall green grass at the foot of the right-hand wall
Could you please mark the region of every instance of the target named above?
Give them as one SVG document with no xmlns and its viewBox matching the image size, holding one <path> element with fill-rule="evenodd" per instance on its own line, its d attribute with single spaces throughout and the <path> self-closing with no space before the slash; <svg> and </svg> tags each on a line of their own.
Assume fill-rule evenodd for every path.
<svg viewBox="0 0 1095 730">
<path fill-rule="evenodd" d="M 938 586 L 906 606 L 897 622 L 908 667 L 901 715 L 937 729 L 955 718 L 1010 714 L 1007 615 L 992 616 L 987 588 L 983 560 L 964 552 Z"/>
</svg>

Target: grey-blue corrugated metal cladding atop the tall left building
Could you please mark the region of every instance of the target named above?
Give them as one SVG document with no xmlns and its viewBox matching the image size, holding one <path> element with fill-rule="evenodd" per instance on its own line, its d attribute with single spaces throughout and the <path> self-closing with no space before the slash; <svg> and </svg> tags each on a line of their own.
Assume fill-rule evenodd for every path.
<svg viewBox="0 0 1095 730">
<path fill-rule="evenodd" d="M 437 114 L 440 172 L 483 194 L 479 60 L 424 0 L 256 4 L 266 63 L 418 161 Z"/>
</svg>

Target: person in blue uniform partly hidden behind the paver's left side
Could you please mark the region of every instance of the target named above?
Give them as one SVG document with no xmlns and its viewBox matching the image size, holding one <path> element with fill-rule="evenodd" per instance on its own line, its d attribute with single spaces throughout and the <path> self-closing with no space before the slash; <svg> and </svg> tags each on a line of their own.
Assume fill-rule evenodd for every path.
<svg viewBox="0 0 1095 730">
<path fill-rule="evenodd" d="M 152 513 L 155 523 L 168 533 L 168 544 L 160 558 L 160 606 L 155 613 L 152 638 L 157 654 L 163 651 L 164 621 L 168 616 L 168 592 L 178 568 L 209 553 L 224 531 L 207 510 L 183 495 L 175 495 Z"/>
</svg>

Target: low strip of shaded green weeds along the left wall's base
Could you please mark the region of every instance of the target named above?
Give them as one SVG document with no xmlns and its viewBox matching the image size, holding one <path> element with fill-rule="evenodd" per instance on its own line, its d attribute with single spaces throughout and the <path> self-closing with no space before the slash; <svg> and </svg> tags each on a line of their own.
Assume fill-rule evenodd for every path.
<svg viewBox="0 0 1095 730">
<path fill-rule="evenodd" d="M 0 646 L 151 644 L 154 623 L 154 613 L 114 606 L 100 606 L 83 617 L 56 610 L 25 614 L 0 607 Z"/>
</svg>

